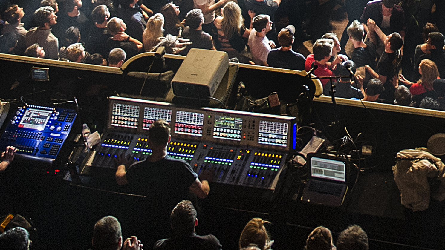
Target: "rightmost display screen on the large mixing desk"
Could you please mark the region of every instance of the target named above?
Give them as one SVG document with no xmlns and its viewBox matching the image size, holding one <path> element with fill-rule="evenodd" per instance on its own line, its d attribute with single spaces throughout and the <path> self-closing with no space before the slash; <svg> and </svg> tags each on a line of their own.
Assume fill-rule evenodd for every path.
<svg viewBox="0 0 445 250">
<path fill-rule="evenodd" d="M 258 143 L 287 147 L 287 123 L 259 121 Z"/>
</svg>

